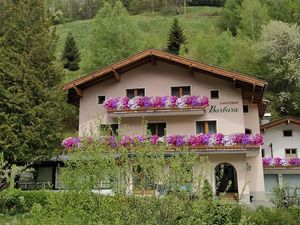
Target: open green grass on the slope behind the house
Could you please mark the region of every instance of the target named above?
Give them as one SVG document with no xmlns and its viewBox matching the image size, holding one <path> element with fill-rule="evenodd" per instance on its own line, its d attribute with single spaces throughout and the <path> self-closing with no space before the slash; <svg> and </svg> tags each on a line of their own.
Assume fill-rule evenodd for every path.
<svg viewBox="0 0 300 225">
<path fill-rule="evenodd" d="M 188 49 L 193 48 L 197 34 L 200 32 L 214 32 L 220 8 L 215 7 L 189 7 L 186 15 L 178 15 L 180 25 L 187 37 Z M 168 31 L 174 16 L 161 15 L 135 15 L 130 17 L 141 35 L 140 50 L 146 48 L 163 49 L 166 46 Z M 56 26 L 58 46 L 56 55 L 60 58 L 65 38 L 72 32 L 81 52 L 81 69 L 76 72 L 66 71 L 66 82 L 85 75 L 95 68 L 88 67 L 89 61 L 89 34 L 93 20 L 74 21 Z"/>
</svg>

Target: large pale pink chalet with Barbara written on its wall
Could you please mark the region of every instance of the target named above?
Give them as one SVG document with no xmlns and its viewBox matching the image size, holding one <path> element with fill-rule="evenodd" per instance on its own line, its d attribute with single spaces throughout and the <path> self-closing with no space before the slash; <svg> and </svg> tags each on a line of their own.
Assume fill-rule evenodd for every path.
<svg viewBox="0 0 300 225">
<path fill-rule="evenodd" d="M 233 137 L 230 135 L 260 133 L 266 85 L 254 77 L 149 49 L 71 81 L 64 85 L 64 91 L 68 93 L 68 102 L 79 107 L 80 136 L 96 134 L 102 124 L 111 126 L 119 135 L 140 135 L 147 129 L 159 137 L 206 133 Z M 135 103 L 121 107 L 124 99 L 129 104 L 137 96 L 155 103 L 151 107 L 145 102 L 143 107 Z M 172 99 L 189 98 L 190 103 L 176 102 L 175 108 L 167 106 Z M 168 103 L 155 105 L 162 99 Z M 147 128 L 142 121 L 147 122 Z M 244 203 L 263 201 L 261 143 L 237 139 L 233 144 L 195 147 L 193 151 L 207 156 L 213 165 L 208 179 L 215 193 L 227 188 L 222 184 L 216 187 L 215 176 L 223 165 L 224 179 L 232 183 L 228 192 L 239 194 Z M 196 165 L 197 168 L 200 166 Z M 53 178 L 58 171 L 54 167 L 51 171 Z"/>
</svg>

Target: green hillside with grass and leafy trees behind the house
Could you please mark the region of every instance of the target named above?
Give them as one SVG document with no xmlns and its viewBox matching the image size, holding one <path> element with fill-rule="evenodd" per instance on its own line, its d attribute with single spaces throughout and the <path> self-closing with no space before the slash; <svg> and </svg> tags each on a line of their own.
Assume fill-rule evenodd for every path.
<svg viewBox="0 0 300 225">
<path fill-rule="evenodd" d="M 76 15 L 70 14 L 76 2 L 79 11 Z M 105 5 L 100 0 L 48 1 L 50 10 L 56 10 L 55 24 L 62 23 L 56 25 L 57 58 L 61 58 L 70 32 L 80 52 L 79 69 L 65 70 L 65 82 L 147 48 L 167 50 L 168 34 L 176 17 L 186 38 L 180 55 L 266 79 L 269 111 L 275 117 L 300 115 L 300 31 L 297 25 L 300 1 L 108 2 L 111 4 Z M 80 10 L 87 8 L 99 10 L 80 16 Z"/>
</svg>

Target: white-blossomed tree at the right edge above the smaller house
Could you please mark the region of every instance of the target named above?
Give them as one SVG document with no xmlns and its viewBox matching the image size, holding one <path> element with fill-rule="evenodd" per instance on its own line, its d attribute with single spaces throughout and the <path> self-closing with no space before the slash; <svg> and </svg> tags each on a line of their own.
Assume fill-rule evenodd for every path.
<svg viewBox="0 0 300 225">
<path fill-rule="evenodd" d="M 258 51 L 275 108 L 281 115 L 299 115 L 300 28 L 271 21 L 263 28 Z"/>
</svg>

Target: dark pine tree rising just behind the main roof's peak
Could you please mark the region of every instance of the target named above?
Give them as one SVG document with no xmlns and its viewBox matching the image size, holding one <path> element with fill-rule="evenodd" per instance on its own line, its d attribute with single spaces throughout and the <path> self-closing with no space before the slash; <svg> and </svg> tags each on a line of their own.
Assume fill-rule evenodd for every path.
<svg viewBox="0 0 300 225">
<path fill-rule="evenodd" d="M 175 18 L 172 28 L 169 31 L 167 50 L 170 53 L 178 55 L 181 45 L 185 43 L 186 38 L 183 34 L 183 29 L 179 26 L 177 18 Z"/>
</svg>

